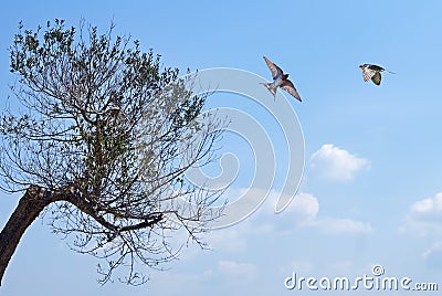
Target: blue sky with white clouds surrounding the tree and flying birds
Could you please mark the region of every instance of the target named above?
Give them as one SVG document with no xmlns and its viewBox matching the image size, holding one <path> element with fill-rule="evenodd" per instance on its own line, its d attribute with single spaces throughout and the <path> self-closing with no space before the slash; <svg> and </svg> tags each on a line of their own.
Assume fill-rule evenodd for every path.
<svg viewBox="0 0 442 296">
<path fill-rule="evenodd" d="M 99 286 L 98 262 L 71 251 L 44 220 L 36 220 L 20 242 L 0 295 L 309 295 L 287 290 L 284 279 L 293 272 L 317 278 L 371 275 L 373 264 L 388 276 L 439 281 L 442 289 L 441 13 L 442 2 L 435 0 L 2 3 L 2 97 L 14 80 L 8 46 L 20 20 L 27 28 L 55 18 L 77 27 L 84 18 L 102 30 L 113 20 L 116 33 L 140 40 L 145 50 L 162 55 L 165 66 L 181 70 L 234 67 L 270 78 L 266 55 L 291 74 L 303 97 L 291 104 L 305 139 L 305 170 L 286 211 L 273 212 L 283 183 L 276 172 L 259 211 L 208 234 L 211 251 L 183 250 L 170 269 L 149 272 L 151 281 L 140 287 Z M 362 63 L 397 74 L 383 74 L 380 87 L 364 83 Z M 270 94 L 269 99 L 273 103 Z M 277 129 L 244 97 L 217 94 L 209 103 L 246 110 L 271 134 Z M 278 137 L 272 139 L 284 168 L 286 148 Z M 246 189 L 253 166 L 242 139 L 230 135 L 227 140 L 223 151 L 243 161 L 229 192 L 234 197 Z M 18 197 L 0 197 L 2 226 Z"/>
</svg>

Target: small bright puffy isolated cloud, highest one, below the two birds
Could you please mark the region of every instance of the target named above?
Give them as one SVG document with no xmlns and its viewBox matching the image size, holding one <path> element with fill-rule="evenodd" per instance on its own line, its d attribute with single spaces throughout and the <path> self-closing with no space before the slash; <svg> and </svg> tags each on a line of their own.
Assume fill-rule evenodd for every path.
<svg viewBox="0 0 442 296">
<path fill-rule="evenodd" d="M 332 181 L 351 181 L 362 168 L 369 168 L 370 161 L 358 158 L 347 150 L 325 144 L 311 157 L 312 169 Z"/>
</svg>

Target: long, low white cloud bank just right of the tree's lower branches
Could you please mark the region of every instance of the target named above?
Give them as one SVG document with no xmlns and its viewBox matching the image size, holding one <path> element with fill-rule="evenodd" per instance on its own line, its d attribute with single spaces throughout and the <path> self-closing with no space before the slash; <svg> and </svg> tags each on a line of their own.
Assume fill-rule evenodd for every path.
<svg viewBox="0 0 442 296">
<path fill-rule="evenodd" d="M 239 189 L 238 192 L 242 192 Z M 262 190 L 254 189 L 262 195 Z M 214 251 L 243 253 L 248 251 L 248 240 L 251 235 L 273 235 L 275 233 L 293 233 L 299 229 L 311 228 L 326 235 L 368 234 L 372 232 L 368 222 L 347 218 L 319 215 L 318 199 L 307 192 L 299 192 L 292 203 L 280 214 L 274 212 L 276 200 L 281 192 L 272 190 L 262 207 L 246 220 L 232 226 L 212 230 L 206 236 L 209 247 Z"/>
</svg>

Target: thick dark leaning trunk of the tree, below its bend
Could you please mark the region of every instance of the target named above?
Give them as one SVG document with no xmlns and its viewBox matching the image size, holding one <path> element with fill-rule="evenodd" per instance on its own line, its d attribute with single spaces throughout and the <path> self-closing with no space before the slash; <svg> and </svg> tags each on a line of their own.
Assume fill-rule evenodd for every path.
<svg viewBox="0 0 442 296">
<path fill-rule="evenodd" d="M 45 190 L 31 186 L 20 199 L 14 212 L 0 232 L 0 286 L 4 271 L 21 236 L 41 211 L 53 200 L 44 195 Z"/>
</svg>

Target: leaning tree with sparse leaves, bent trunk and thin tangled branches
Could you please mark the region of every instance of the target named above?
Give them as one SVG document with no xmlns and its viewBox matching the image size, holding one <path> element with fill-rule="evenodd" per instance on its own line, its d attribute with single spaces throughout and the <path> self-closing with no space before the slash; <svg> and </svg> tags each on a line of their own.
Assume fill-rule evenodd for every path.
<svg viewBox="0 0 442 296">
<path fill-rule="evenodd" d="M 117 267 L 122 282 L 145 283 L 146 265 L 176 258 L 178 230 L 203 246 L 220 192 L 183 173 L 212 159 L 224 121 L 201 116 L 207 96 L 190 91 L 191 78 L 138 41 L 113 38 L 113 27 L 77 32 L 61 20 L 35 31 L 20 23 L 10 59 L 19 80 L 0 123 L 0 187 L 24 194 L 0 233 L 0 281 L 39 215 L 104 261 L 101 283 Z"/>
</svg>

